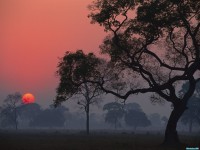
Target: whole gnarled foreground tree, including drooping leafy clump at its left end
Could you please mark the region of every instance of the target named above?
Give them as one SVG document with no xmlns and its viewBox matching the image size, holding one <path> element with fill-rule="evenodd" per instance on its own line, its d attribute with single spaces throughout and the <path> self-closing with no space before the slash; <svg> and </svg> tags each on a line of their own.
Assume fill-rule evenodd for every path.
<svg viewBox="0 0 200 150">
<path fill-rule="evenodd" d="M 58 64 L 55 104 L 78 93 L 85 82 L 125 100 L 152 93 L 153 102 L 173 105 L 164 143 L 176 145 L 177 122 L 200 80 L 200 1 L 95 0 L 89 9 L 91 23 L 109 32 L 100 45 L 109 62 L 92 53 L 67 52 Z M 186 81 L 188 89 L 179 95 Z"/>
</svg>

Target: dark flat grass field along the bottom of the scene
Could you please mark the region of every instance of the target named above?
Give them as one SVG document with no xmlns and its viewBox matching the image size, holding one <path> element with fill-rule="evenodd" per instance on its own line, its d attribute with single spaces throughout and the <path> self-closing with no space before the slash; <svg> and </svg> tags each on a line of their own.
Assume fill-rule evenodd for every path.
<svg viewBox="0 0 200 150">
<path fill-rule="evenodd" d="M 0 150 L 177 150 L 159 146 L 163 135 L 68 133 L 64 131 L 0 132 Z M 181 136 L 183 147 L 197 147 L 200 136 Z"/>
</svg>

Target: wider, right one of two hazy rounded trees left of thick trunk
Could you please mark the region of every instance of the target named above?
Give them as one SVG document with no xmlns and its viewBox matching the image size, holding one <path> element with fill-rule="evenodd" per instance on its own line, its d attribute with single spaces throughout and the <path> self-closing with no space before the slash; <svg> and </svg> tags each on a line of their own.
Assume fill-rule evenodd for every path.
<svg viewBox="0 0 200 150">
<path fill-rule="evenodd" d="M 125 114 L 125 123 L 136 130 L 137 127 L 147 127 L 151 125 L 146 114 L 142 111 L 130 109 Z"/>
</svg>

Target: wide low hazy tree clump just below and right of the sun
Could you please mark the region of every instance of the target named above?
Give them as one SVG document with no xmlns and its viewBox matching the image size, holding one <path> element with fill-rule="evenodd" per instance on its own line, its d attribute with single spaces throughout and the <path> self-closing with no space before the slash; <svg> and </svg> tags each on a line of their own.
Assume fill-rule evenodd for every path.
<svg viewBox="0 0 200 150">
<path fill-rule="evenodd" d="M 64 106 L 47 108 L 34 117 L 34 119 L 30 122 L 30 126 L 50 128 L 64 127 L 65 111 L 68 111 L 68 109 Z"/>
</svg>

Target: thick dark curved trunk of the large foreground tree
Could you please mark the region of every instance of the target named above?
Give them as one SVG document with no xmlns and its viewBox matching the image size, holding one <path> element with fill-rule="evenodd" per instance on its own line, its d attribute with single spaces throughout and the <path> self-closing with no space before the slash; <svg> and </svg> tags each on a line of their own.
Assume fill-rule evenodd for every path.
<svg viewBox="0 0 200 150">
<path fill-rule="evenodd" d="M 167 146 L 180 145 L 180 140 L 176 131 L 176 127 L 177 127 L 178 120 L 180 119 L 181 115 L 183 114 L 185 110 L 186 110 L 186 106 L 183 106 L 183 105 L 174 107 L 167 123 L 163 145 L 167 145 Z"/>
</svg>

